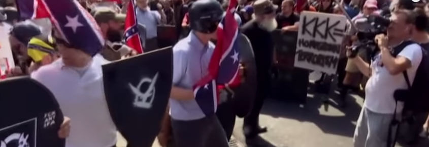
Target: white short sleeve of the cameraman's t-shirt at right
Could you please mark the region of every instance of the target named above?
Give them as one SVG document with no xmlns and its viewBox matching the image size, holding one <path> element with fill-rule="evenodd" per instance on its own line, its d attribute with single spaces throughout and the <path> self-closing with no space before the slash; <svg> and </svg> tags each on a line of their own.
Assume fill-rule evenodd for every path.
<svg viewBox="0 0 429 147">
<path fill-rule="evenodd" d="M 404 50 L 402 50 L 398 56 L 405 57 L 410 60 L 412 67 L 419 66 L 421 59 L 423 58 L 421 46 L 416 43 L 405 46 Z"/>
</svg>

